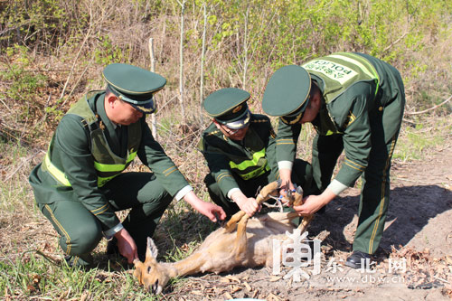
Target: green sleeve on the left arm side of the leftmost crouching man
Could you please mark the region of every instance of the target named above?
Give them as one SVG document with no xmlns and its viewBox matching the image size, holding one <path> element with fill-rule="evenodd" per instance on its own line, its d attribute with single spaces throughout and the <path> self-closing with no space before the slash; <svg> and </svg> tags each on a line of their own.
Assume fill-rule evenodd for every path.
<svg viewBox="0 0 452 301">
<path fill-rule="evenodd" d="M 81 126 L 80 118 L 67 115 L 56 129 L 52 154 L 55 163 L 59 161 L 58 165 L 62 166 L 77 199 L 99 219 L 102 230 L 108 230 L 120 221 L 99 190 L 88 141 L 89 133 Z"/>
</svg>

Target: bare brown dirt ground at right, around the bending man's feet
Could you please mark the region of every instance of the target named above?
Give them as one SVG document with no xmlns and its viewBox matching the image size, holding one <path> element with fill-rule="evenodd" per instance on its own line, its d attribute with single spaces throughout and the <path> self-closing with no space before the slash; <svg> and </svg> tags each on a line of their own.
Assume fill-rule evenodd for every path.
<svg viewBox="0 0 452 301">
<path fill-rule="evenodd" d="M 189 277 L 165 290 L 170 299 L 265 300 L 441 300 L 452 297 L 452 147 L 425 161 L 391 168 L 391 204 L 381 247 L 372 269 L 344 267 L 356 228 L 359 189 L 328 204 L 309 228 L 322 240 L 320 273 L 284 278 L 270 268 L 242 268 L 221 275 Z M 307 268 L 309 269 L 309 267 Z M 310 268 L 312 269 L 312 268 Z"/>
</svg>

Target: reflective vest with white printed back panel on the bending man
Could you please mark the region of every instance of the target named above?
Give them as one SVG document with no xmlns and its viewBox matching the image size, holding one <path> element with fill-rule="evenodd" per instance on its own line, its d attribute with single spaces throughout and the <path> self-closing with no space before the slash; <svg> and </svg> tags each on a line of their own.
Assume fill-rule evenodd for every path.
<svg viewBox="0 0 452 301">
<path fill-rule="evenodd" d="M 358 54 L 336 52 L 325 57 L 307 61 L 302 66 L 310 74 L 314 74 L 324 80 L 323 96 L 327 105 L 359 81 L 374 82 L 376 84 L 375 95 L 377 95 L 380 77 L 373 65 Z M 332 119 L 328 116 L 327 112 L 321 113 L 321 127 L 327 129 L 324 133 L 321 133 L 319 128 L 316 127 L 320 135 L 342 134 L 334 126 Z"/>
</svg>

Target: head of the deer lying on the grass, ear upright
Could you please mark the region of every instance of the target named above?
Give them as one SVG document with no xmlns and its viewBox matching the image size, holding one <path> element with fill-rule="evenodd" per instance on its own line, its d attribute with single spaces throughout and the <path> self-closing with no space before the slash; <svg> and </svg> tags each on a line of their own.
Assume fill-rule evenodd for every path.
<svg viewBox="0 0 452 301">
<path fill-rule="evenodd" d="M 146 260 L 141 262 L 135 259 L 134 276 L 147 290 L 158 295 L 168 283 L 170 276 L 168 270 L 157 262 L 157 254 L 158 249 L 155 247 L 154 240 L 147 238 Z"/>
</svg>

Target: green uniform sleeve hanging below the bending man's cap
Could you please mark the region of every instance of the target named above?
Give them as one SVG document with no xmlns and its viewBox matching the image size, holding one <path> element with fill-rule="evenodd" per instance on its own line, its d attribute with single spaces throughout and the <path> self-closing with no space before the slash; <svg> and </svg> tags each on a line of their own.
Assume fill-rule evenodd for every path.
<svg viewBox="0 0 452 301">
<path fill-rule="evenodd" d="M 298 136 L 301 132 L 301 125 L 287 125 L 278 120 L 278 134 L 276 137 L 276 157 L 277 162 L 290 161 L 294 162 L 297 155 Z"/>
</svg>

